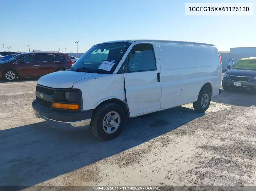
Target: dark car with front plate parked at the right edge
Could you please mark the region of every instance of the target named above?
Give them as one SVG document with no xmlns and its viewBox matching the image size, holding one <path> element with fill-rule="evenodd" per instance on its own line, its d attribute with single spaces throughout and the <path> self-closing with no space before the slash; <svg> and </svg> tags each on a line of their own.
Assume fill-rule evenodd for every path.
<svg viewBox="0 0 256 191">
<path fill-rule="evenodd" d="M 224 90 L 256 91 L 256 57 L 243 58 L 235 64 L 230 59 L 227 68 L 222 80 Z"/>
</svg>

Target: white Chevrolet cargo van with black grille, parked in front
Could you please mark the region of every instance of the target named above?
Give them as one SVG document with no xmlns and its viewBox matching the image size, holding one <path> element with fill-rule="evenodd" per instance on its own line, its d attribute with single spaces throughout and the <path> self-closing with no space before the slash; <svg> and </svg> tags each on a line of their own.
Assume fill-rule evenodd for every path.
<svg viewBox="0 0 256 191">
<path fill-rule="evenodd" d="M 92 46 L 71 68 L 42 76 L 35 116 L 62 130 L 117 137 L 128 118 L 193 103 L 205 112 L 221 94 L 221 57 L 212 44 L 125 40 Z"/>
</svg>

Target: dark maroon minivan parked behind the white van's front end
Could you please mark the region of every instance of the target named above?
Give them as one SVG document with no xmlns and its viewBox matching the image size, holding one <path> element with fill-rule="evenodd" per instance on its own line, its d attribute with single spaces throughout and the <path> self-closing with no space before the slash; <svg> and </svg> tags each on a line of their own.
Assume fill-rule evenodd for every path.
<svg viewBox="0 0 256 191">
<path fill-rule="evenodd" d="M 7 62 L 0 62 L 0 78 L 14 81 L 23 77 L 39 77 L 64 71 L 73 64 L 64 53 L 22 53 Z"/>
</svg>

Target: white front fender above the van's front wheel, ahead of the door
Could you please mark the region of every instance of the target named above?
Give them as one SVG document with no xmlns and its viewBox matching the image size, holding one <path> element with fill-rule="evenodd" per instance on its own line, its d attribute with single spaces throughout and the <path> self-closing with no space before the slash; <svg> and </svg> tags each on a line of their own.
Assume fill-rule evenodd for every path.
<svg viewBox="0 0 256 191">
<path fill-rule="evenodd" d="M 116 98 L 125 99 L 123 74 L 98 74 L 97 76 L 77 81 L 73 88 L 81 89 L 83 110 L 97 107 L 101 102 Z"/>
</svg>

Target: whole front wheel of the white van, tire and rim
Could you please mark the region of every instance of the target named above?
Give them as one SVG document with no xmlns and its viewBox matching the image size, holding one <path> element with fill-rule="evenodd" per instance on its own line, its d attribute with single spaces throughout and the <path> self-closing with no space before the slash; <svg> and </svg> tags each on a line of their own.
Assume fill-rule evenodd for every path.
<svg viewBox="0 0 256 191">
<path fill-rule="evenodd" d="M 97 107 L 91 120 L 91 132 L 102 140 L 116 138 L 124 129 L 125 112 L 116 103 L 103 103 Z"/>
</svg>

